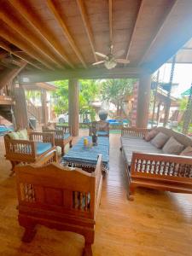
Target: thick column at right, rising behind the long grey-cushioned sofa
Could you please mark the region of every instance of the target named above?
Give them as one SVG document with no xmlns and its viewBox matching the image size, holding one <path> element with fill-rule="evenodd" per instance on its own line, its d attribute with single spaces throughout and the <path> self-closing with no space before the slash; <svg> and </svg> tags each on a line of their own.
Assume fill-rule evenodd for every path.
<svg viewBox="0 0 192 256">
<path fill-rule="evenodd" d="M 139 79 L 137 96 L 137 127 L 148 126 L 148 108 L 150 102 L 151 75 L 143 74 Z"/>
</svg>

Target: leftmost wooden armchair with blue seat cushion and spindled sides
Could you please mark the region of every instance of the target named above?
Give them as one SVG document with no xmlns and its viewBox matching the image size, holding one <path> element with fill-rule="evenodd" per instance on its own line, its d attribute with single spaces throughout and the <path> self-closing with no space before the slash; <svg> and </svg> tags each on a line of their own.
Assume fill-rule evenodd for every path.
<svg viewBox="0 0 192 256">
<path fill-rule="evenodd" d="M 55 151 L 54 135 L 49 132 L 29 132 L 28 139 L 13 139 L 8 133 L 4 136 L 4 145 L 5 158 L 12 164 L 10 176 L 15 172 L 16 164 L 47 160 L 51 157 L 49 153 Z"/>
</svg>

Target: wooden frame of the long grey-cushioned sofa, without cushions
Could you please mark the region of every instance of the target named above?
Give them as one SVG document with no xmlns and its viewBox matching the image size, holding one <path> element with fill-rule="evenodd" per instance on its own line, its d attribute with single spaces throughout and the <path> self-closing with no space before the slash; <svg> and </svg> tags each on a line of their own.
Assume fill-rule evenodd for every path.
<svg viewBox="0 0 192 256">
<path fill-rule="evenodd" d="M 122 136 L 143 137 L 150 129 L 124 128 Z M 137 187 L 192 194 L 192 158 L 173 154 L 132 153 L 131 166 L 125 158 L 128 199 Z"/>
</svg>

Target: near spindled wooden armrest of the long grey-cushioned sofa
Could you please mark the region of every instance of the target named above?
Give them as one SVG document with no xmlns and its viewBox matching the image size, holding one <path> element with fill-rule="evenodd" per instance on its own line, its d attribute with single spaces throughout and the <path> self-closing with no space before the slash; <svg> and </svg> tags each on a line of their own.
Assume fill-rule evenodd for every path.
<svg viewBox="0 0 192 256">
<path fill-rule="evenodd" d="M 192 158 L 173 154 L 144 154 L 133 152 L 131 177 L 192 178 Z M 192 181 L 192 179 L 191 179 Z"/>
</svg>

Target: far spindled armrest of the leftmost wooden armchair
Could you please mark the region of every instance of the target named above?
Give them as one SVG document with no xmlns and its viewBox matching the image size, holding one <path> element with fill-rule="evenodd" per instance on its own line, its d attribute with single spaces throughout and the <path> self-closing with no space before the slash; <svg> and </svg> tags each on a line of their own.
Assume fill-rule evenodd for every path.
<svg viewBox="0 0 192 256">
<path fill-rule="evenodd" d="M 51 143 L 52 146 L 55 146 L 55 137 L 51 132 L 30 132 L 29 139 L 36 143 Z"/>
</svg>

